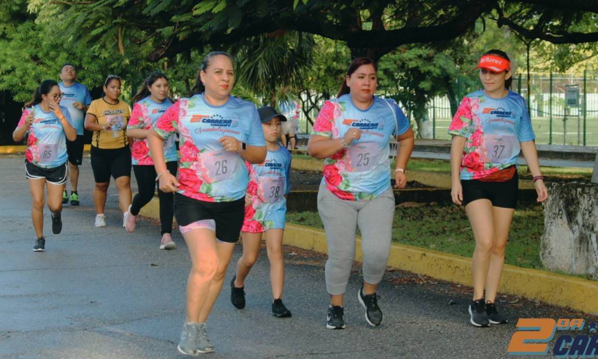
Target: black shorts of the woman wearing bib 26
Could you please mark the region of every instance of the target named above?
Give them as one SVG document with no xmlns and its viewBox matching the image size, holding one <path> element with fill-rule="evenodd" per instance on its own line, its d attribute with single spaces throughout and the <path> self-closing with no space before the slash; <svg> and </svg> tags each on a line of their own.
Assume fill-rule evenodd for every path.
<svg viewBox="0 0 598 359">
<path fill-rule="evenodd" d="M 245 196 L 231 202 L 205 202 L 175 193 L 175 218 L 179 226 L 214 220 L 216 238 L 222 242 L 236 243 L 245 219 Z"/>
</svg>

